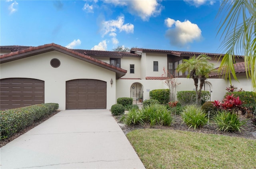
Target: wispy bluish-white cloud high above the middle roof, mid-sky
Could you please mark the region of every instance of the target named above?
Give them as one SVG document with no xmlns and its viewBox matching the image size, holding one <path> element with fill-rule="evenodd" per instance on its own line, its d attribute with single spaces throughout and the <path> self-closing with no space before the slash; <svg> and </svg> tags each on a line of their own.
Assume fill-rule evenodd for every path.
<svg viewBox="0 0 256 169">
<path fill-rule="evenodd" d="M 134 25 L 133 24 L 124 24 L 124 16 L 119 16 L 117 20 L 109 20 L 102 22 L 102 37 L 108 33 L 116 32 L 126 32 L 133 33 Z"/>
</svg>

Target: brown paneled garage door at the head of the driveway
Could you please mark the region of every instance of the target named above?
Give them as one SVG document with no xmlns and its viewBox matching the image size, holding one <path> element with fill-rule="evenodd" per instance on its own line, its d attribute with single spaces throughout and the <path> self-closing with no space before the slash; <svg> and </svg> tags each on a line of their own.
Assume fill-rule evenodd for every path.
<svg viewBox="0 0 256 169">
<path fill-rule="evenodd" d="M 66 109 L 106 109 L 107 83 L 76 79 L 66 82 Z"/>
</svg>

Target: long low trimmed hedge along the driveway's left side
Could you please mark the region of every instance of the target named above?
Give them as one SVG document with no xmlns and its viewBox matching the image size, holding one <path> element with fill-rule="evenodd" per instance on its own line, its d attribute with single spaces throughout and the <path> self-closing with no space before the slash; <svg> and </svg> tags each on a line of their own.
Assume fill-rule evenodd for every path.
<svg viewBox="0 0 256 169">
<path fill-rule="evenodd" d="M 34 121 L 53 113 L 58 107 L 58 103 L 43 103 L 0 111 L 0 139 L 14 135 Z"/>
</svg>

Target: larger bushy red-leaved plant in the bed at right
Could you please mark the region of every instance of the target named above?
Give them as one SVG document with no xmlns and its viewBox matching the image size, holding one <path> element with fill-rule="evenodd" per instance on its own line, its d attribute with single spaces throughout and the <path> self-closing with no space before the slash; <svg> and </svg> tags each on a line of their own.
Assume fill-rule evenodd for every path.
<svg viewBox="0 0 256 169">
<path fill-rule="evenodd" d="M 230 112 L 237 112 L 238 110 L 242 110 L 242 101 L 238 97 L 234 97 L 234 94 L 232 95 L 226 95 L 226 97 L 223 99 L 223 101 L 214 101 L 212 103 L 215 107 L 218 109 L 225 109 Z"/>
</svg>

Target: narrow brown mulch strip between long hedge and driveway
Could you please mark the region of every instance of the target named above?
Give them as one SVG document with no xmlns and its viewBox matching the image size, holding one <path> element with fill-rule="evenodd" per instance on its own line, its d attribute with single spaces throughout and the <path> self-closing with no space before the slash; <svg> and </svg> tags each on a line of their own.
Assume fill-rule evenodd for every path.
<svg viewBox="0 0 256 169">
<path fill-rule="evenodd" d="M 50 117 L 52 117 L 53 115 L 56 115 L 58 111 L 55 111 L 54 113 L 45 116 L 44 118 L 40 119 L 39 121 L 36 121 L 35 123 L 33 123 L 32 125 L 29 125 L 28 127 L 22 129 L 21 131 L 19 131 L 18 133 L 12 135 L 11 137 L 7 138 L 7 139 L 2 139 L 0 140 L 0 147 L 3 147 L 4 145 L 6 145 L 7 143 L 9 143 L 10 141 L 16 139 L 17 137 L 19 137 L 20 135 L 26 133 L 27 131 L 29 131 L 30 129 L 36 127 L 37 125 L 41 124 L 42 122 L 46 121 L 47 119 L 49 119 Z"/>
</svg>

